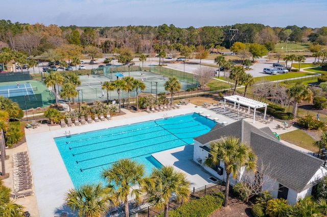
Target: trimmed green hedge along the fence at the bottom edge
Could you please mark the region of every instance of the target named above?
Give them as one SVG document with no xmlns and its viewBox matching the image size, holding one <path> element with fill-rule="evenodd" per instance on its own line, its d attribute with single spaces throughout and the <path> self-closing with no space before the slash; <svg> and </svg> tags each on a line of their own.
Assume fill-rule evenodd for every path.
<svg viewBox="0 0 327 217">
<path fill-rule="evenodd" d="M 224 195 L 219 192 L 213 195 L 206 195 L 199 200 L 191 200 L 174 210 L 169 211 L 170 217 L 207 217 L 216 209 L 219 209 L 224 201 Z M 158 217 L 164 217 L 161 212 Z"/>
</svg>

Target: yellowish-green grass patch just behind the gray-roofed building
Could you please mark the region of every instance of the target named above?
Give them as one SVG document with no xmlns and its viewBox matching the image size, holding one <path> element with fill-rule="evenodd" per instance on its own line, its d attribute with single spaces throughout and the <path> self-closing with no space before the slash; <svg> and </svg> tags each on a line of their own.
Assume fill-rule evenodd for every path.
<svg viewBox="0 0 327 217">
<path fill-rule="evenodd" d="M 286 132 L 281 134 L 280 136 L 282 140 L 297 145 L 301 148 L 305 148 L 313 152 L 318 151 L 318 148 L 313 145 L 315 141 L 301 129 Z"/>
</svg>

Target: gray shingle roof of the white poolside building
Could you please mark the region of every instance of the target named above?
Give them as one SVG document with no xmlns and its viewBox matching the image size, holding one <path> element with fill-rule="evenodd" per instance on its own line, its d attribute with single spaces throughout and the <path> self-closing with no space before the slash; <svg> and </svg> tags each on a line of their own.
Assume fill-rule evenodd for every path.
<svg viewBox="0 0 327 217">
<path fill-rule="evenodd" d="M 308 182 L 324 162 L 279 142 L 267 127 L 258 129 L 244 120 L 220 126 L 194 140 L 206 144 L 227 135 L 241 138 L 258 156 L 258 167 L 261 163 L 262 166 L 269 167 L 272 178 L 297 193 L 309 186 Z"/>
</svg>

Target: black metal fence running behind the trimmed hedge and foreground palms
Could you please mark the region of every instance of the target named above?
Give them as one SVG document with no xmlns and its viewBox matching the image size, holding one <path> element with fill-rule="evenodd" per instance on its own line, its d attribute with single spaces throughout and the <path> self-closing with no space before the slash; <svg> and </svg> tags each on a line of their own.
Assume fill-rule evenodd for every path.
<svg viewBox="0 0 327 217">
<path fill-rule="evenodd" d="M 211 195 L 217 192 L 224 192 L 225 191 L 225 182 L 224 181 L 217 181 L 215 183 L 210 183 L 199 187 L 197 189 L 193 188 L 191 193 L 191 200 L 198 200 L 200 197 L 204 197 L 205 195 Z M 183 201 L 176 201 L 172 200 L 169 202 L 169 210 L 176 209 L 180 205 L 183 204 Z M 130 217 L 153 217 L 159 215 L 163 212 L 164 209 L 156 209 L 154 206 L 148 206 L 146 208 L 137 210 L 135 212 L 131 212 L 129 214 Z"/>
</svg>

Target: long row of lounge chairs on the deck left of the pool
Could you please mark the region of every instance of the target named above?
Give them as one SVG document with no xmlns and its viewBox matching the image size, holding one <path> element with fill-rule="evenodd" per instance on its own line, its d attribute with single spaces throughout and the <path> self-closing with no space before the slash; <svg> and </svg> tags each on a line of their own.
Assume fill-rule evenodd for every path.
<svg viewBox="0 0 327 217">
<path fill-rule="evenodd" d="M 27 151 L 13 154 L 12 159 L 14 198 L 33 195 L 32 172 Z"/>
</svg>

